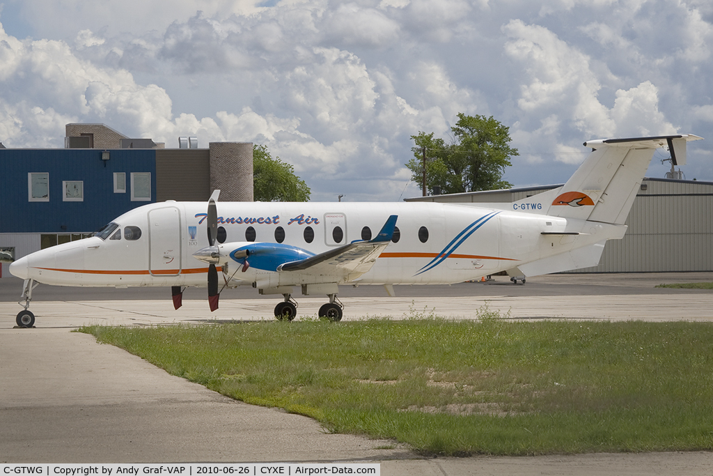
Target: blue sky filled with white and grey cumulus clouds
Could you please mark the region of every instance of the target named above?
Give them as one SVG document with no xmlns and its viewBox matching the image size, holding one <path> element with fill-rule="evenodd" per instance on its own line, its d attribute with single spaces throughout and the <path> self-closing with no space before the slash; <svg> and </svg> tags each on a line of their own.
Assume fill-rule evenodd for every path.
<svg viewBox="0 0 713 476">
<path fill-rule="evenodd" d="M 694 133 L 713 181 L 709 0 L 0 0 L 0 141 L 66 123 L 178 147 L 249 141 L 313 201 L 399 201 L 421 131 L 493 116 L 515 186 L 564 183 L 594 138 Z M 647 176 L 663 178 L 669 154 Z"/>
</svg>

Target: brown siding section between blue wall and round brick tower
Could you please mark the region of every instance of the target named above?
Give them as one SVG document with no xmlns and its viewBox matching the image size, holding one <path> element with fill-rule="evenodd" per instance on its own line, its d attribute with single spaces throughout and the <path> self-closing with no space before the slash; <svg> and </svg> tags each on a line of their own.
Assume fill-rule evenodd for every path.
<svg viewBox="0 0 713 476">
<path fill-rule="evenodd" d="M 156 201 L 207 201 L 210 193 L 208 149 L 156 151 Z"/>
</svg>

